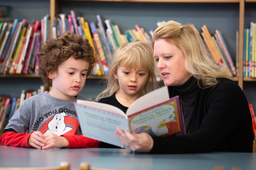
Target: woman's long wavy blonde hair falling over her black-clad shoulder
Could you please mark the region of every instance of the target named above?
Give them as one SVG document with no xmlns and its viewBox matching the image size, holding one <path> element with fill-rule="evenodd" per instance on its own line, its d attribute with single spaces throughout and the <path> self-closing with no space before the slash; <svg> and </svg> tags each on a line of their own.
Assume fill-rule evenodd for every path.
<svg viewBox="0 0 256 170">
<path fill-rule="evenodd" d="M 201 88 L 215 86 L 218 78 L 229 78 L 223 67 L 213 61 L 193 24 L 182 25 L 175 21 L 168 21 L 154 31 L 152 46 L 158 39 L 174 43 L 183 52 L 185 68 L 198 79 L 198 85 Z"/>
</svg>

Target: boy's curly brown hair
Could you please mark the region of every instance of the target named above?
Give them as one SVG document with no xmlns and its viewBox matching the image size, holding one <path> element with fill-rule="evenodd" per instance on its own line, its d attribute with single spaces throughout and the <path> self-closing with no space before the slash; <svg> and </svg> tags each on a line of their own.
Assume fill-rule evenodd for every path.
<svg viewBox="0 0 256 170">
<path fill-rule="evenodd" d="M 59 38 L 50 38 L 45 41 L 37 55 L 39 57 L 40 76 L 47 86 L 52 86 L 52 80 L 48 78 L 47 73 L 57 71 L 58 66 L 70 56 L 89 62 L 90 66 L 86 77 L 92 73 L 96 62 L 96 55 L 88 39 L 70 32 L 64 32 Z"/>
</svg>

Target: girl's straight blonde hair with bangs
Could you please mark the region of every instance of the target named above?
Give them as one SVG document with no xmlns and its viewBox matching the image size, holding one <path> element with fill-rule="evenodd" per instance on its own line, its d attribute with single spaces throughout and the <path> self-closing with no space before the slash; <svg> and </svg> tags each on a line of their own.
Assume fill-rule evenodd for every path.
<svg viewBox="0 0 256 170">
<path fill-rule="evenodd" d="M 153 49 L 150 42 L 136 41 L 126 43 L 114 51 L 108 75 L 106 75 L 104 79 L 107 87 L 96 97 L 95 101 L 98 101 L 103 97 L 111 96 L 119 90 L 118 80 L 114 77 L 114 73 L 117 72 L 119 66 L 125 66 L 132 69 L 142 68 L 148 71 L 147 82 L 141 95 L 146 94 L 149 89 L 152 91 L 157 88 L 156 63 L 153 58 Z"/>
</svg>

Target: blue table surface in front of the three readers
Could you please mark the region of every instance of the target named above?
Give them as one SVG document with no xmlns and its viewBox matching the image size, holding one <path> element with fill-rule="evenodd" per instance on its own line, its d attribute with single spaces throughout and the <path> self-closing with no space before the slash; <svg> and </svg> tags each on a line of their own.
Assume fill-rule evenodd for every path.
<svg viewBox="0 0 256 170">
<path fill-rule="evenodd" d="M 233 167 L 256 169 L 256 153 L 145 154 L 133 153 L 129 149 L 41 150 L 0 146 L 1 167 L 57 167 L 62 161 L 70 162 L 71 168 L 79 168 L 81 162 L 87 162 L 91 167 L 107 169 L 212 170 L 215 166 L 223 166 L 225 170 Z"/>
</svg>

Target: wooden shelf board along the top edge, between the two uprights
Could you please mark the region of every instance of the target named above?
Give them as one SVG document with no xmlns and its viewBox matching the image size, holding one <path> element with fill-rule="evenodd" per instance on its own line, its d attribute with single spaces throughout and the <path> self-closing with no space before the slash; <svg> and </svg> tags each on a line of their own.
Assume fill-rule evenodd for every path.
<svg viewBox="0 0 256 170">
<path fill-rule="evenodd" d="M 65 1 L 65 0 L 62 0 Z M 66 0 L 70 1 L 70 0 Z M 71 1 L 105 1 L 105 2 L 166 2 L 166 3 L 239 3 L 240 0 L 71 0 Z"/>
</svg>

